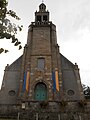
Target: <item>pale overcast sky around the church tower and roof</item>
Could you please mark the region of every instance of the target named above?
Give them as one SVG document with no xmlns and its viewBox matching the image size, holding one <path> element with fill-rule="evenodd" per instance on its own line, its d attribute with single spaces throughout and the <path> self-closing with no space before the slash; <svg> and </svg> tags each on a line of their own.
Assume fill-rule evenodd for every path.
<svg viewBox="0 0 90 120">
<path fill-rule="evenodd" d="M 34 12 L 42 0 L 8 0 L 8 8 L 14 10 L 21 18 L 12 20 L 23 25 L 22 32 L 17 34 L 22 46 L 27 42 L 28 26 L 35 20 Z M 60 52 L 73 64 L 80 68 L 81 82 L 90 86 L 90 0 L 44 0 L 50 12 L 50 21 L 56 25 L 57 42 Z M 11 40 L 1 40 L 0 47 L 9 49 L 7 54 L 0 54 L 0 85 L 3 80 L 4 69 L 13 63 L 23 49 L 18 50 L 11 44 Z"/>
</svg>

